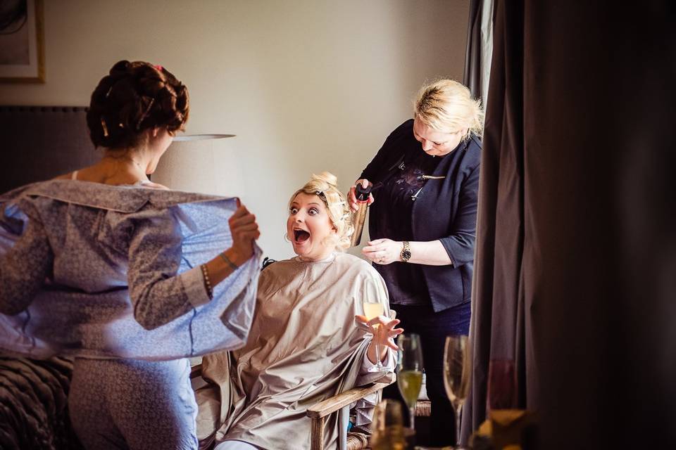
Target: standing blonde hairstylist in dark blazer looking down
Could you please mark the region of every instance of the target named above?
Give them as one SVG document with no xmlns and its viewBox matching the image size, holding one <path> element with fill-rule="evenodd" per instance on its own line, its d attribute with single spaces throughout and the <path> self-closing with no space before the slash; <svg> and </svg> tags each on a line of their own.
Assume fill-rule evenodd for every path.
<svg viewBox="0 0 676 450">
<path fill-rule="evenodd" d="M 420 335 L 431 446 L 456 442 L 442 365 L 446 335 L 467 335 L 470 326 L 483 118 L 462 84 L 426 84 L 413 118 L 392 131 L 355 183 L 373 188 L 363 255 L 384 278 L 403 328 Z M 396 387 L 383 395 L 401 398 Z"/>
</svg>

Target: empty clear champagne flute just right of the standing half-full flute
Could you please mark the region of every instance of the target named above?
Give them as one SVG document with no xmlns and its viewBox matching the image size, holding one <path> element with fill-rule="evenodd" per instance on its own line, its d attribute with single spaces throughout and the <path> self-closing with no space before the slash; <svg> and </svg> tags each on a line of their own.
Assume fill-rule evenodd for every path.
<svg viewBox="0 0 676 450">
<path fill-rule="evenodd" d="M 460 418 L 470 391 L 471 360 L 468 337 L 446 336 L 444 345 L 444 387 L 456 410 L 456 443 L 460 444 Z"/>
</svg>

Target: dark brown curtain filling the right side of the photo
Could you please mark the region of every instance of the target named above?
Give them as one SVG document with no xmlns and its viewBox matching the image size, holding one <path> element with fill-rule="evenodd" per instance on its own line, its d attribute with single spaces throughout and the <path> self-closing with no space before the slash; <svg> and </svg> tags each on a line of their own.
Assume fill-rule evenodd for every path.
<svg viewBox="0 0 676 450">
<path fill-rule="evenodd" d="M 496 1 L 465 437 L 511 359 L 537 448 L 676 445 L 675 7 Z"/>
</svg>

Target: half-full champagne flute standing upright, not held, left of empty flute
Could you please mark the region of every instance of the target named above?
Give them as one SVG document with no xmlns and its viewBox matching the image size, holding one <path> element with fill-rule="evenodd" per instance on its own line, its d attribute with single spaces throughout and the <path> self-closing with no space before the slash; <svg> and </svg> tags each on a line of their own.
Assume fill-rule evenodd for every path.
<svg viewBox="0 0 676 450">
<path fill-rule="evenodd" d="M 423 349 L 420 347 L 420 336 L 415 333 L 399 335 L 396 345 L 399 347 L 396 385 L 410 411 L 411 430 L 415 430 L 415 403 L 423 385 Z"/>
</svg>

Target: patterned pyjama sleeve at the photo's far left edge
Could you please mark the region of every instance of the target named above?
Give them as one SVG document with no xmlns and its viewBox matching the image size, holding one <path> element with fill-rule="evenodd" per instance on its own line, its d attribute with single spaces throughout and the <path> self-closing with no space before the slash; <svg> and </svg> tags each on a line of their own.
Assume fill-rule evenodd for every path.
<svg viewBox="0 0 676 450">
<path fill-rule="evenodd" d="M 0 258 L 0 313 L 8 316 L 26 309 L 51 271 L 54 253 L 44 225 L 30 203 L 21 207 L 25 229 Z"/>
</svg>

